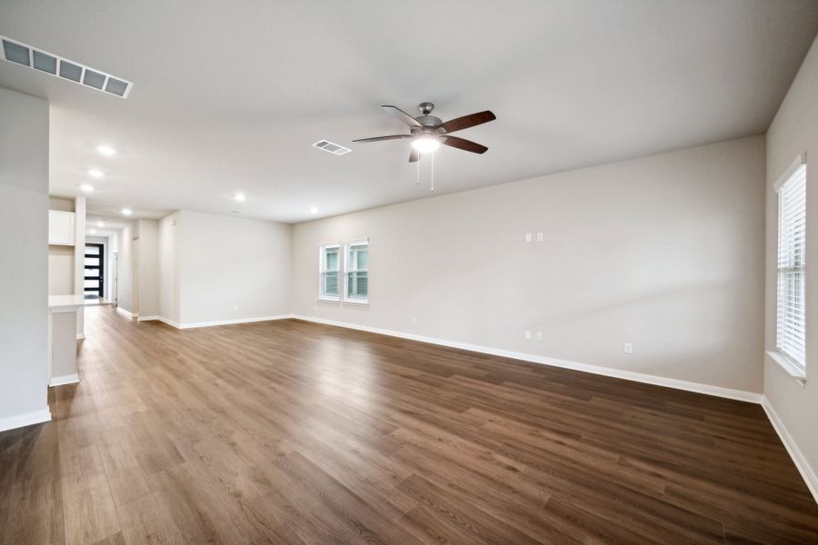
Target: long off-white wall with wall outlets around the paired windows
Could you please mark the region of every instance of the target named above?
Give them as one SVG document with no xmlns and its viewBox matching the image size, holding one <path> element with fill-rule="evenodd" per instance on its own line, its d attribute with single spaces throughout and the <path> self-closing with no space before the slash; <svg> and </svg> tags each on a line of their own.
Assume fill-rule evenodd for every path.
<svg viewBox="0 0 818 545">
<path fill-rule="evenodd" d="M 760 392 L 763 200 L 757 136 L 301 223 L 294 312 Z M 318 302 L 361 237 L 369 306 Z"/>
</svg>

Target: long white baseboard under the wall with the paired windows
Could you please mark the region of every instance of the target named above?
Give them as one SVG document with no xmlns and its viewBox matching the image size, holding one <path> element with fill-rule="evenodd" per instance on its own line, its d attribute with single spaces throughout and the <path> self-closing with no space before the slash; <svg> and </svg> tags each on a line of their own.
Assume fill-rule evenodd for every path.
<svg viewBox="0 0 818 545">
<path fill-rule="evenodd" d="M 344 327 L 347 329 L 354 329 L 362 332 L 378 333 L 381 335 L 389 335 L 390 337 L 400 337 L 401 339 L 409 339 L 410 341 L 429 342 L 431 344 L 439 344 L 441 346 L 459 348 L 460 350 L 468 350 L 471 352 L 481 352 L 484 354 L 491 354 L 503 358 L 522 360 L 524 362 L 543 363 L 544 365 L 552 365 L 554 367 L 562 367 L 564 369 L 573 369 L 574 371 L 591 372 L 594 374 L 604 375 L 607 377 L 625 379 L 627 381 L 644 382 L 646 384 L 654 384 L 656 386 L 664 386 L 666 388 L 674 388 L 676 390 L 695 391 L 697 393 L 713 395 L 716 397 L 722 397 L 731 400 L 748 401 L 751 403 L 760 403 L 762 400 L 762 394 L 755 393 L 753 391 L 733 390 L 731 388 L 711 386 L 710 384 L 702 384 L 700 382 L 667 379 L 664 377 L 644 374 L 641 372 L 621 371 L 618 369 L 612 369 L 610 367 L 602 367 L 600 365 L 569 362 L 567 360 L 558 360 L 556 358 L 537 356 L 525 352 L 507 351 L 498 348 L 480 346 L 477 344 L 469 344 L 467 342 L 445 341 L 444 339 L 435 339 L 434 337 L 424 337 L 423 335 L 414 335 L 412 333 L 394 332 L 390 330 L 383 330 L 375 327 L 357 325 L 348 322 L 335 322 L 333 320 L 313 318 L 312 316 L 304 316 L 301 314 L 294 314 L 293 318 L 295 318 L 296 320 L 304 320 L 305 322 L 323 323 L 325 325 L 334 325 L 337 327 Z"/>
</svg>

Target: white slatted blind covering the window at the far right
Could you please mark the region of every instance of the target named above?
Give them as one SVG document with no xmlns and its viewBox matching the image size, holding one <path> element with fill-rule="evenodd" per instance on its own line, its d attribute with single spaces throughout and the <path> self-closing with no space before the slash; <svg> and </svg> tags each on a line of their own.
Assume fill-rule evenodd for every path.
<svg viewBox="0 0 818 545">
<path fill-rule="evenodd" d="M 776 348 L 806 369 L 804 242 L 806 164 L 798 163 L 778 188 L 778 309 Z"/>
</svg>

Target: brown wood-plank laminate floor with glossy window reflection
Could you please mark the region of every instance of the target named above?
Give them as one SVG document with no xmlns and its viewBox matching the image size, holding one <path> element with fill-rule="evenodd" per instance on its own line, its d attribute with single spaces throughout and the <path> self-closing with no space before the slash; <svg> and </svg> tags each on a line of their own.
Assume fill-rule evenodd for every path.
<svg viewBox="0 0 818 545">
<path fill-rule="evenodd" d="M 85 309 L 0 542 L 818 543 L 762 409 L 307 322 Z"/>
</svg>

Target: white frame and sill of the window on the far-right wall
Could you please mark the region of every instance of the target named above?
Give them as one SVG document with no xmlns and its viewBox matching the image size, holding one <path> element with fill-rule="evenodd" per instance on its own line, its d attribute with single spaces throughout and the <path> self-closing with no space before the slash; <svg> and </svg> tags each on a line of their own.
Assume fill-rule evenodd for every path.
<svg viewBox="0 0 818 545">
<path fill-rule="evenodd" d="M 782 236 L 783 236 L 783 227 L 790 222 L 785 221 L 787 218 L 784 217 L 784 202 L 783 202 L 783 195 L 782 190 L 786 186 L 787 183 L 796 179 L 796 175 L 800 175 L 800 172 L 803 169 L 803 184 L 804 184 L 804 203 L 803 209 L 798 207 L 797 209 L 790 209 L 789 213 L 796 215 L 799 213 L 803 213 L 803 225 L 804 225 L 804 233 L 803 233 L 803 240 L 800 244 L 801 246 L 801 258 L 800 265 L 793 265 L 793 264 L 782 264 Z M 777 218 L 776 218 L 776 252 L 775 252 L 775 348 L 773 351 L 767 352 L 768 355 L 773 359 L 774 362 L 777 362 L 784 371 L 788 372 L 792 375 L 796 380 L 803 381 L 806 380 L 806 286 L 804 282 L 806 282 L 807 278 L 807 271 L 806 271 L 806 263 L 804 261 L 804 254 L 806 250 L 806 199 L 808 193 L 807 188 L 807 169 L 806 169 L 806 154 L 800 155 L 796 158 L 795 161 L 784 171 L 782 176 L 778 179 L 778 181 L 773 186 L 775 193 L 778 197 L 778 210 L 777 210 Z M 781 328 L 781 313 L 782 313 L 782 274 L 791 274 L 793 271 L 800 272 L 801 277 L 801 290 L 803 290 L 803 310 L 802 310 L 802 321 L 800 323 L 802 327 L 801 334 L 803 335 L 803 362 L 800 362 L 797 356 L 790 354 L 787 352 L 785 348 L 781 346 L 782 344 L 782 328 Z M 787 296 L 791 293 L 790 290 L 786 291 Z"/>
</svg>

